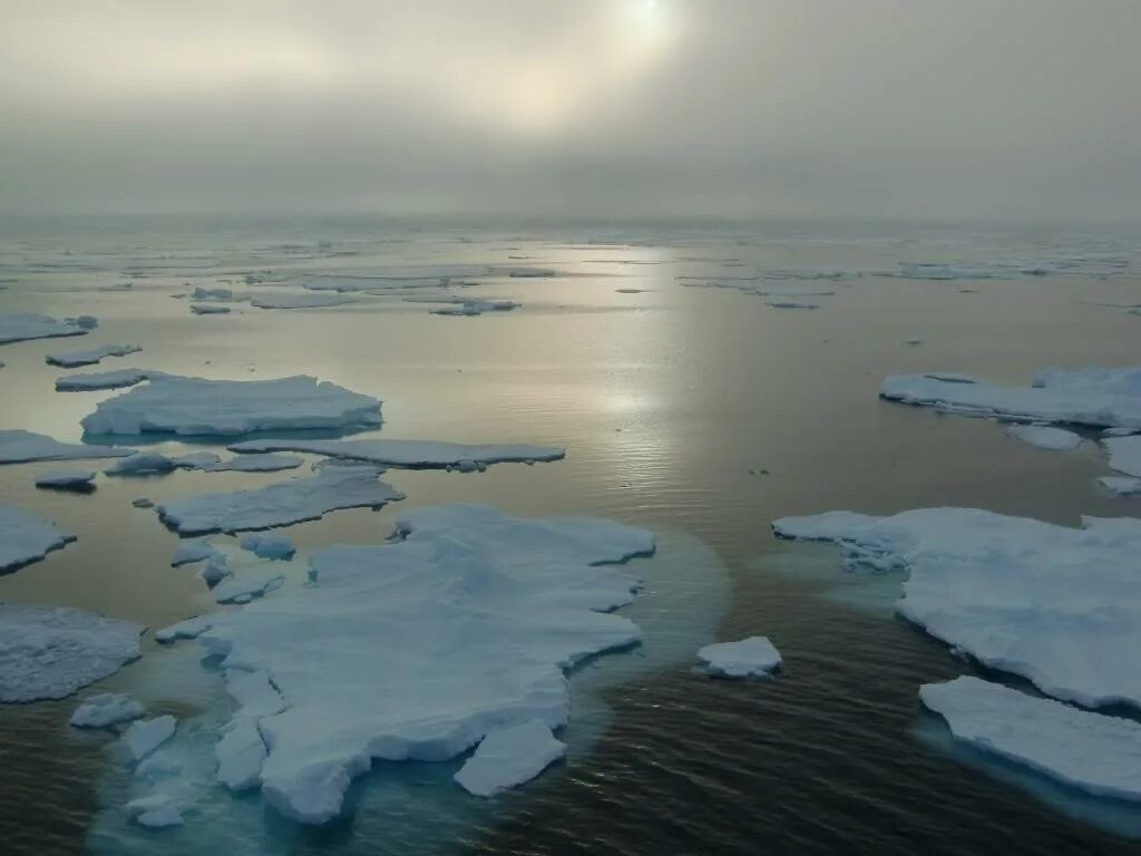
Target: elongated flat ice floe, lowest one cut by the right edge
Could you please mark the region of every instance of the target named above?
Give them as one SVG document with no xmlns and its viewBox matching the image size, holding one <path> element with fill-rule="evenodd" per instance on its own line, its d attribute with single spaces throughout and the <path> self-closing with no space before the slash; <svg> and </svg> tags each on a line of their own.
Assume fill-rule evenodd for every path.
<svg viewBox="0 0 1141 856">
<path fill-rule="evenodd" d="M 1141 800 L 1141 724 L 970 677 L 926 684 L 920 698 L 955 740 L 1099 797 Z"/>
</svg>

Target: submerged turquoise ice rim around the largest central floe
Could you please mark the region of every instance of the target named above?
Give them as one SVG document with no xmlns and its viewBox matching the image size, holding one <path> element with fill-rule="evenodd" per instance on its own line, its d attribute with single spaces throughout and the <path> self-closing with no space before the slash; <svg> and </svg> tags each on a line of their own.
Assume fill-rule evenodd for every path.
<svg viewBox="0 0 1141 856">
<path fill-rule="evenodd" d="M 569 745 L 567 764 L 572 766 L 593 750 L 613 721 L 605 691 L 691 661 L 698 647 L 715 638 L 728 606 L 729 573 L 713 550 L 677 530 L 655 530 L 655 534 L 653 556 L 622 563 L 642 581 L 633 603 L 618 609 L 641 629 L 640 644 L 588 657 L 570 672 L 569 724 L 559 737 Z M 304 584 L 307 558 L 298 555 L 286 563 L 288 586 Z M 203 593 L 203 604 L 210 599 Z M 163 784 L 135 781 L 130 769 L 108 756 L 97 784 L 104 808 L 87 837 L 90 851 L 149 856 L 161 848 L 175 856 L 273 856 L 310 847 L 346 854 L 380 849 L 436 856 L 463 850 L 472 831 L 526 800 L 528 791 L 566 775 L 566 765 L 557 764 L 518 791 L 480 799 L 452 780 L 470 751 L 443 762 L 374 761 L 371 772 L 349 786 L 340 817 L 321 826 L 298 824 L 269 808 L 257 790 L 234 794 L 215 782 L 215 742 L 235 705 L 226 693 L 218 659 L 203 654 L 193 641 L 151 651 L 122 676 L 126 680 L 118 687 L 148 710 L 177 703 L 196 711 L 180 719 L 176 735 L 156 752 L 169 756 L 181 769 L 171 786 L 193 790 L 177 794 L 180 801 L 194 803 L 183 810 L 185 825 L 148 831 L 131 823 L 122 808 L 126 802 L 161 791 Z"/>
</svg>

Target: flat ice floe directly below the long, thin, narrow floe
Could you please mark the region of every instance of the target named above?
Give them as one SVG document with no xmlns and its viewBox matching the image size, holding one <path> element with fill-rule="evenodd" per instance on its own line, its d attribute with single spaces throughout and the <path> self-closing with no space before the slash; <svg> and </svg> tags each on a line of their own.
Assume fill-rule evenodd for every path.
<svg viewBox="0 0 1141 856">
<path fill-rule="evenodd" d="M 341 508 L 379 508 L 404 499 L 377 476 L 375 467 L 327 467 L 265 487 L 175 499 L 157 507 L 159 516 L 178 533 L 195 535 L 286 526 Z"/>
</svg>

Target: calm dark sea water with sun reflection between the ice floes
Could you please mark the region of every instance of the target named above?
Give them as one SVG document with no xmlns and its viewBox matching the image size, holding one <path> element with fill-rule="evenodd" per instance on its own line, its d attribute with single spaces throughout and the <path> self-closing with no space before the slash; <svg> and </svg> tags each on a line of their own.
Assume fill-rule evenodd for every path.
<svg viewBox="0 0 1141 856">
<path fill-rule="evenodd" d="M 1141 302 L 1139 251 L 1141 236 L 1112 231 L 34 224 L 0 241 L 0 280 L 8 281 L 0 312 L 88 313 L 100 329 L 0 348 L 0 412 L 2 427 L 79 439 L 79 420 L 114 393 L 55 393 L 63 372 L 43 355 L 104 342 L 143 352 L 100 369 L 304 372 L 382 398 L 379 436 L 551 443 L 568 455 L 470 476 L 390 473 L 406 502 L 290 527 L 302 551 L 377 542 L 403 508 L 450 501 L 527 516 L 585 512 L 662 534 L 659 555 L 634 566 L 646 592 L 629 612 L 647 643 L 576 677 L 567 765 L 491 803 L 455 794 L 447 765 L 378 767 L 354 789 L 356 810 L 323 830 L 285 823 L 257 797 L 235 800 L 218 808 L 228 851 L 1141 853 L 1135 809 L 1084 800 L 949 746 L 921 712 L 917 688 L 971 667 L 892 617 L 898 580 L 845 576 L 831 551 L 777 542 L 769 528 L 774 517 L 834 508 L 962 504 L 1071 525 L 1083 514 L 1141 512 L 1141 500 L 1098 490 L 1106 468 L 1093 444 L 1043 452 L 993 423 L 875 395 L 895 371 L 1026 382 L 1046 365 L 1138 363 L 1141 318 L 1098 304 Z M 901 261 L 1004 276 L 868 273 Z M 1047 275 L 1014 273 L 1038 263 L 1050 263 Z M 244 290 L 249 272 L 404 265 L 533 265 L 559 276 L 485 277 L 463 294 L 524 307 L 475 318 L 430 315 L 399 299 L 305 312 L 240 304 L 228 316 L 195 317 L 170 297 L 184 283 L 230 278 Z M 788 278 L 824 269 L 850 275 Z M 815 312 L 782 310 L 678 278 L 758 272 L 786 277 L 774 285 L 836 293 L 819 298 Z M 127 281 L 130 292 L 99 290 Z M 616 291 L 632 288 L 644 291 Z M 912 336 L 923 345 L 906 345 Z M 130 500 L 283 477 L 177 473 L 103 479 L 88 496 L 34 490 L 33 476 L 55 467 L 0 468 L 0 498 L 56 520 L 79 542 L 0 578 L 0 598 L 152 627 L 195 613 L 203 587 L 194 568 L 168 566 L 175 536 Z M 751 633 L 782 649 L 777 680 L 694 672 L 698 645 Z M 219 685 L 193 646 L 148 641 L 141 661 L 83 694 L 122 689 L 153 711 L 193 718 L 221 703 Z M 74 704 L 0 706 L 0 849 L 209 849 L 210 832 L 193 822 L 157 835 L 126 826 L 106 737 L 68 732 Z"/>
</svg>

